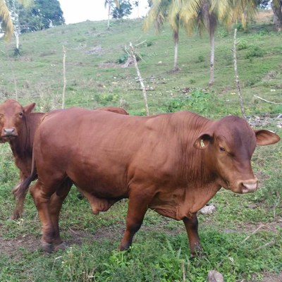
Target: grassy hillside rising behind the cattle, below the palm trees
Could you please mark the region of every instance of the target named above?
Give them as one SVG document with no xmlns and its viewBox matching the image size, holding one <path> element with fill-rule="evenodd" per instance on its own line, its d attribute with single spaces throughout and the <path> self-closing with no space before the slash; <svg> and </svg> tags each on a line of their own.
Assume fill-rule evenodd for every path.
<svg viewBox="0 0 282 282">
<path fill-rule="evenodd" d="M 216 33 L 215 78 L 209 82 L 209 39 L 180 33 L 179 66 L 173 67 L 173 39 L 168 27 L 156 35 L 142 32 L 142 20 L 113 21 L 111 30 L 105 22 L 78 23 L 21 36 L 21 56 L 13 56 L 14 43 L 0 44 L 0 99 L 13 97 L 14 81 L 20 101 L 36 100 L 40 107 L 58 107 L 63 90 L 63 46 L 66 48 L 67 106 L 103 106 L 123 104 L 129 111 L 142 114 L 142 92 L 135 68 L 116 63 L 125 55 L 129 42 L 140 44 L 137 54 L 145 85 L 151 91 L 152 114 L 167 111 L 169 100 L 189 97 L 187 90 L 205 90 L 223 102 L 226 111 L 238 111 L 238 97 L 233 71 L 233 31 L 219 27 Z M 281 106 L 266 104 L 254 94 L 273 102 L 281 100 L 281 33 L 266 23 L 238 32 L 238 73 L 247 114 L 279 113 Z M 195 103 L 194 103 L 195 104 Z M 191 110 L 192 105 L 189 105 Z M 214 109 L 214 107 L 212 108 Z M 197 106 L 195 111 L 199 111 Z M 240 111 L 238 111 L 240 112 Z M 216 113 L 221 111 L 216 109 Z"/>
</svg>

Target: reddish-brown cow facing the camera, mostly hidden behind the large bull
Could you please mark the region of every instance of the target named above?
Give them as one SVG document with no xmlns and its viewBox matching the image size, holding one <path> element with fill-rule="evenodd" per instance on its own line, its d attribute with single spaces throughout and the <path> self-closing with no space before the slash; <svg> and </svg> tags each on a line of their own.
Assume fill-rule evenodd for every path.
<svg viewBox="0 0 282 282">
<path fill-rule="evenodd" d="M 32 145 L 35 130 L 41 121 L 42 113 L 32 113 L 35 103 L 22 106 L 16 100 L 8 99 L 0 104 L 0 142 L 8 142 L 13 152 L 16 166 L 20 170 L 20 182 L 30 176 L 32 164 Z M 112 111 L 117 114 L 128 115 L 119 107 L 104 107 L 99 111 Z M 60 110 L 56 110 L 60 111 Z M 23 212 L 25 196 L 16 202 L 16 208 L 11 219 L 18 219 Z"/>
</svg>

